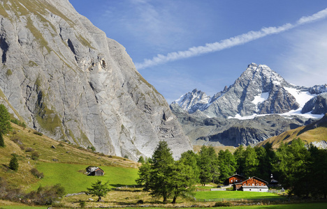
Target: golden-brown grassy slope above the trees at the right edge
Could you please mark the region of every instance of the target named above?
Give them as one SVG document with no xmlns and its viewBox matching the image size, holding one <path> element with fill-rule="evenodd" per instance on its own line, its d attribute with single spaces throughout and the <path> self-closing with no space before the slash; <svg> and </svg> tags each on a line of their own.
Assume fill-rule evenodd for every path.
<svg viewBox="0 0 327 209">
<path fill-rule="evenodd" d="M 314 142 L 319 146 L 321 143 L 326 144 L 327 141 L 327 114 L 319 121 L 304 125 L 293 130 L 288 130 L 275 137 L 270 137 L 265 141 L 257 144 L 264 146 L 267 143 L 273 144 L 273 148 L 278 148 L 281 143 L 288 144 L 293 139 L 302 139 L 307 143 Z"/>
</svg>

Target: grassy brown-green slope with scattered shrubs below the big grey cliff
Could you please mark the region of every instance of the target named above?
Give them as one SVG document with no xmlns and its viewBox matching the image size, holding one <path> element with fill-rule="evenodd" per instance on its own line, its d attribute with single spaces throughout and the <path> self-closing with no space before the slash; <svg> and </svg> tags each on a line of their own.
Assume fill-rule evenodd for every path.
<svg viewBox="0 0 327 209">
<path fill-rule="evenodd" d="M 85 182 L 76 182 L 81 178 L 87 177 L 82 173 L 89 165 L 106 168 L 105 178 L 111 176 L 111 172 L 115 176 L 131 177 L 131 179 L 120 179 L 120 184 L 129 185 L 136 177 L 138 163 L 123 157 L 115 157 L 111 155 L 103 155 L 94 153 L 92 150 L 85 150 L 78 146 L 58 142 L 45 135 L 39 136 L 34 134 L 33 130 L 20 127 L 14 123 L 13 131 L 4 137 L 6 144 L 5 148 L 0 149 L 0 176 L 6 178 L 10 185 L 20 187 L 25 191 L 37 189 L 38 185 L 54 185 L 61 183 L 66 189 L 66 192 L 80 192 L 74 189 L 75 186 L 80 188 L 89 187 L 90 182 L 94 182 L 94 178 L 88 178 Z M 52 148 L 54 146 L 55 148 Z M 17 172 L 8 169 L 11 154 L 18 155 L 19 169 Z M 35 154 L 38 153 L 38 154 Z M 32 160 L 31 156 L 39 155 L 38 160 Z M 38 171 L 44 173 L 45 177 L 40 180 L 31 174 L 31 169 L 37 168 Z M 53 168 L 51 170 L 51 168 Z M 112 168 L 112 169 L 110 169 Z M 80 172 L 79 172 L 80 171 Z M 127 174 L 126 174 L 127 172 Z M 65 174 L 64 174 L 65 173 Z M 66 176 L 71 176 L 71 179 L 79 176 L 75 182 L 66 185 Z M 127 181 L 127 183 L 126 183 Z M 72 187 L 72 184 L 75 186 Z M 119 180 L 111 180 L 111 183 L 119 183 Z"/>
</svg>

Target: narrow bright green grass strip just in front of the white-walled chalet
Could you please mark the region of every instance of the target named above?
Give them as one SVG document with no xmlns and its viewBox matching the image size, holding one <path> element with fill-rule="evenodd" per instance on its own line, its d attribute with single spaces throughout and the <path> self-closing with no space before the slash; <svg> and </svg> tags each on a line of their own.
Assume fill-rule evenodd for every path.
<svg viewBox="0 0 327 209">
<path fill-rule="evenodd" d="M 278 194 L 268 192 L 242 192 L 242 191 L 200 191 L 195 192 L 196 199 L 270 199 L 283 198 Z"/>
</svg>

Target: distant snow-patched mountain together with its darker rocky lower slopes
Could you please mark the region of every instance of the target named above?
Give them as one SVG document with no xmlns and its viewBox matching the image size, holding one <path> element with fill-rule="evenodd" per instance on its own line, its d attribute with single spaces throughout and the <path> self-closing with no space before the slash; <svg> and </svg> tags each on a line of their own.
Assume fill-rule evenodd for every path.
<svg viewBox="0 0 327 209">
<path fill-rule="evenodd" d="M 314 123 L 327 112 L 327 84 L 295 86 L 267 65 L 251 63 L 212 97 L 202 91 L 170 104 L 194 145 L 254 145 Z"/>
</svg>

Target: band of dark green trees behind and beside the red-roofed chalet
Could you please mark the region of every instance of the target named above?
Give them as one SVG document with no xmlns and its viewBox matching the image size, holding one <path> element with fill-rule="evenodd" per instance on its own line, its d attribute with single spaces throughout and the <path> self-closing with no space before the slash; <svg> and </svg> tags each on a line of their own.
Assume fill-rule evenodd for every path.
<svg viewBox="0 0 327 209">
<path fill-rule="evenodd" d="M 182 153 L 180 160 L 174 160 L 168 144 L 160 141 L 152 157 L 140 157 L 139 162 L 143 164 L 136 183 L 163 201 L 173 198 L 173 203 L 178 196 L 192 195 L 196 184 L 221 184 L 235 173 L 268 182 L 273 174 L 290 195 L 326 199 L 327 194 L 327 150 L 306 146 L 301 139 L 277 150 L 271 144 L 241 145 L 234 153 L 226 149 L 217 154 L 212 146 L 202 146 L 198 153 Z"/>
</svg>

